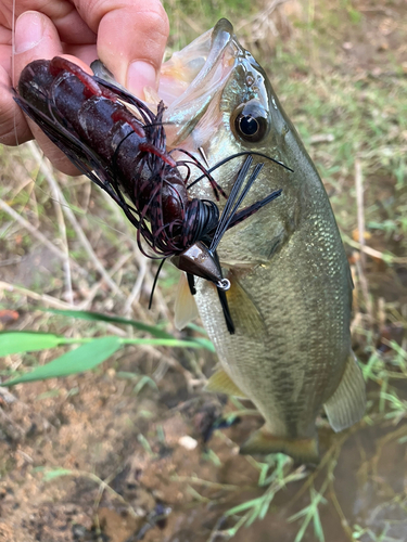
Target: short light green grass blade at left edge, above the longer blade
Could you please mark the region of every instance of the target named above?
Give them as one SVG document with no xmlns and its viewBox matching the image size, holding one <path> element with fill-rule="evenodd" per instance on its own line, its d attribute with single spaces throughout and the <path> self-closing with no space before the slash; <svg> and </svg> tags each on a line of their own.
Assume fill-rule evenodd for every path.
<svg viewBox="0 0 407 542">
<path fill-rule="evenodd" d="M 61 337 L 53 333 L 3 332 L 0 333 L 0 357 L 55 348 L 60 344 Z"/>
</svg>

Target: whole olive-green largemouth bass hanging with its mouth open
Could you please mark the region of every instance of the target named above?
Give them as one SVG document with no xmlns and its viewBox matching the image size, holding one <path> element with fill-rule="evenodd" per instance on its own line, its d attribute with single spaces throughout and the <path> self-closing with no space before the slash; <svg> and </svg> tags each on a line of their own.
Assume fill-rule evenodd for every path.
<svg viewBox="0 0 407 542">
<path fill-rule="evenodd" d="M 335 431 L 365 412 L 365 383 L 351 347 L 352 278 L 319 175 L 254 57 L 221 20 L 163 65 L 161 98 L 167 141 L 209 166 L 237 153 L 264 162 L 250 205 L 282 189 L 272 204 L 227 232 L 218 246 L 236 333 L 225 322 L 216 288 L 199 280 L 195 300 L 220 367 L 207 389 L 249 398 L 265 425 L 242 453 L 283 452 L 319 461 L 316 417 L 323 405 Z M 230 193 L 242 158 L 214 177 Z M 207 183 L 195 197 L 213 199 Z M 188 294 L 177 319 L 191 315 Z M 187 313 L 183 307 L 188 307 Z"/>
</svg>

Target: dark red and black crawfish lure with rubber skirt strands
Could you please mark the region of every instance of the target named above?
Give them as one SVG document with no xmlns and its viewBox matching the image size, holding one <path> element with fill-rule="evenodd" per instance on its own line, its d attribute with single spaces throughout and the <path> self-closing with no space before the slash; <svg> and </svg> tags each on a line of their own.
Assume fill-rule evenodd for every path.
<svg viewBox="0 0 407 542">
<path fill-rule="evenodd" d="M 247 157 L 227 197 L 194 156 L 178 150 L 186 159 L 176 162 L 167 152 L 163 102 L 154 114 L 125 89 L 59 56 L 26 66 L 14 100 L 71 162 L 122 207 L 137 229 L 138 245 L 145 256 L 171 257 L 188 273 L 192 293 L 194 275 L 216 284 L 233 333 L 225 295 L 229 284 L 222 278 L 216 247 L 227 229 L 280 195 L 281 191 L 276 191 L 238 211 L 262 165 L 241 190 L 253 162 Z M 219 193 L 227 198 L 220 218 L 214 202 L 189 196 L 191 165 L 202 170 L 200 179 L 206 178 L 217 201 Z M 182 167 L 185 175 L 179 169 Z M 142 238 L 156 256 L 145 251 Z"/>
</svg>

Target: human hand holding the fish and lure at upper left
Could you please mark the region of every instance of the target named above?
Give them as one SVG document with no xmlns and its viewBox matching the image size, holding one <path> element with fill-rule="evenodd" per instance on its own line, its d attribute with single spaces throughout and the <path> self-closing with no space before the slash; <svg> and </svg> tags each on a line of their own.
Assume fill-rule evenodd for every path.
<svg viewBox="0 0 407 542">
<path fill-rule="evenodd" d="M 143 98 L 145 86 L 157 87 L 167 15 L 160 0 L 14 1 L 18 18 L 13 55 L 13 0 L 0 0 L 0 143 L 15 145 L 35 138 L 58 169 L 77 173 L 4 89 L 15 87 L 22 69 L 34 60 L 67 56 L 91 73 L 88 66 L 99 57 L 119 83 Z"/>
</svg>

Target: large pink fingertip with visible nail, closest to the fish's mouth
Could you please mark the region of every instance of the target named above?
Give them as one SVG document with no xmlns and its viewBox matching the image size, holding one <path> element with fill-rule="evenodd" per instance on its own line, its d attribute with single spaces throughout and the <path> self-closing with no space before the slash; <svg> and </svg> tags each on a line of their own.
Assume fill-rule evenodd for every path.
<svg viewBox="0 0 407 542">
<path fill-rule="evenodd" d="M 98 54 L 118 82 L 140 98 L 157 87 L 169 33 L 158 0 L 76 0 L 88 26 L 98 33 Z"/>
</svg>

